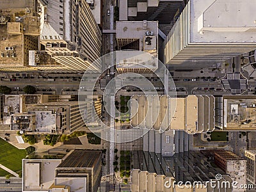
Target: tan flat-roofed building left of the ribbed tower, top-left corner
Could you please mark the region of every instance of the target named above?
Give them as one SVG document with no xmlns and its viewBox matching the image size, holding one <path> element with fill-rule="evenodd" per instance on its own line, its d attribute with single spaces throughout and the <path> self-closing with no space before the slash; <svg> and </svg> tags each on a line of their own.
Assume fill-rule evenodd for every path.
<svg viewBox="0 0 256 192">
<path fill-rule="evenodd" d="M 0 1 L 0 67 L 3 71 L 31 71 L 28 51 L 38 49 L 40 19 L 35 1 Z M 35 70 L 36 71 L 36 70 Z"/>
</svg>

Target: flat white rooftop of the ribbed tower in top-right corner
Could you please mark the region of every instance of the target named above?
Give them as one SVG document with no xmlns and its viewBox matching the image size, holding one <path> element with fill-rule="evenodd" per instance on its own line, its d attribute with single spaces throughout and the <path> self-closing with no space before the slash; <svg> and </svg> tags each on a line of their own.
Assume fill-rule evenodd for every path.
<svg viewBox="0 0 256 192">
<path fill-rule="evenodd" d="M 189 3 L 190 42 L 256 42 L 253 38 L 255 0 L 191 0 Z"/>
</svg>

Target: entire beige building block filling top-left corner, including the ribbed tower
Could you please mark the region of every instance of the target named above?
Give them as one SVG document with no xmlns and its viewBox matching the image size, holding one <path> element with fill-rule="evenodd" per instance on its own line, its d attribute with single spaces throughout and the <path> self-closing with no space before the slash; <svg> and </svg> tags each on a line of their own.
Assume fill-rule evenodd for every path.
<svg viewBox="0 0 256 192">
<path fill-rule="evenodd" d="M 0 1 L 0 71 L 100 70 L 101 32 L 86 0 Z"/>
</svg>

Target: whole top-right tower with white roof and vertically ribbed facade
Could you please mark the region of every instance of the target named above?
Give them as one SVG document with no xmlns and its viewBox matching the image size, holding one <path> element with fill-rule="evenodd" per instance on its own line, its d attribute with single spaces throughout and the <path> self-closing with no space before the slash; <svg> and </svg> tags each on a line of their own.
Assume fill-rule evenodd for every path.
<svg viewBox="0 0 256 192">
<path fill-rule="evenodd" d="M 164 42 L 164 63 L 213 64 L 254 50 L 254 7 L 246 0 L 189 1 Z"/>
</svg>

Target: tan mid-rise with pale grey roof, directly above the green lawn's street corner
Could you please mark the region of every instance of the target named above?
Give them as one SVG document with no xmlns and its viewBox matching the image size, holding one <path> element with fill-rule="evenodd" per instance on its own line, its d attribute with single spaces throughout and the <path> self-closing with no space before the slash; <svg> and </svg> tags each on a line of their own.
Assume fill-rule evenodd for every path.
<svg viewBox="0 0 256 192">
<path fill-rule="evenodd" d="M 80 108 L 79 108 L 80 107 Z M 81 111 L 80 111 L 81 109 Z M 26 105 L 26 113 L 19 116 L 35 115 L 35 129 L 24 129 L 24 131 L 42 134 L 49 133 L 71 133 L 84 125 L 82 115 L 84 115 L 85 104 L 80 106 L 77 101 L 67 102 L 47 102 L 43 104 Z M 13 129 L 19 129 L 20 119 L 17 115 L 12 115 L 13 124 L 17 124 Z M 25 118 L 25 117 L 24 117 Z M 25 118 L 26 119 L 26 118 Z M 29 119 L 29 118 L 28 118 Z M 27 119 L 27 120 L 28 120 Z M 29 122 L 30 123 L 30 122 Z"/>
</svg>

